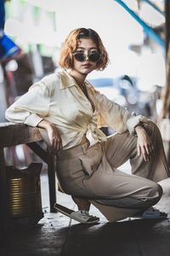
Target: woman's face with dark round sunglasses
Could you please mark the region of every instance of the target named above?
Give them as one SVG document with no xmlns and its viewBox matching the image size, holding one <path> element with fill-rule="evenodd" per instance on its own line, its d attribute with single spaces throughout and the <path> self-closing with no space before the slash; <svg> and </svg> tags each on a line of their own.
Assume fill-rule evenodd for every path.
<svg viewBox="0 0 170 256">
<path fill-rule="evenodd" d="M 92 57 L 89 57 L 89 55 L 92 55 Z M 99 51 L 92 39 L 79 39 L 77 49 L 73 53 L 73 70 L 88 75 L 88 73 L 97 68 L 96 60 L 98 57 Z"/>
</svg>

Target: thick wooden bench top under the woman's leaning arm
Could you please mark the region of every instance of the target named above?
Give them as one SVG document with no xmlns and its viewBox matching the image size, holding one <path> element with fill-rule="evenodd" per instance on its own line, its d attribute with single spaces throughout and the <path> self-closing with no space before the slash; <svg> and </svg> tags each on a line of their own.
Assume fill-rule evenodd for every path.
<svg viewBox="0 0 170 256">
<path fill-rule="evenodd" d="M 2 123 L 0 125 L 0 148 L 42 140 L 37 127 L 25 124 Z"/>
</svg>

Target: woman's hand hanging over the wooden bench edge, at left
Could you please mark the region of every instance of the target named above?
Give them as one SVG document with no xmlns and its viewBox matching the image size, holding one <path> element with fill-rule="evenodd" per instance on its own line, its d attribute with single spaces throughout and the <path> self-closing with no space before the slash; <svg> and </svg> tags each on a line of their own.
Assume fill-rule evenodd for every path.
<svg viewBox="0 0 170 256">
<path fill-rule="evenodd" d="M 51 153 L 59 154 L 63 146 L 59 131 L 56 126 L 46 120 L 42 120 L 37 126 L 40 128 L 44 128 L 48 132 Z"/>
</svg>

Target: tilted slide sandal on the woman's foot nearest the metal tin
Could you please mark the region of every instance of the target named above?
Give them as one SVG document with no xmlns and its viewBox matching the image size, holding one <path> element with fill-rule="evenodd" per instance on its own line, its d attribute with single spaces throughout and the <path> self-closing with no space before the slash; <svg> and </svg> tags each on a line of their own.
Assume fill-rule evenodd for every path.
<svg viewBox="0 0 170 256">
<path fill-rule="evenodd" d="M 83 224 L 94 224 L 99 222 L 99 218 L 93 215 L 90 215 L 88 211 L 81 210 L 81 211 L 73 211 L 67 207 L 63 207 L 57 203 L 54 204 L 54 209 L 58 212 L 65 214 L 70 218 L 74 218 L 78 222 Z"/>
</svg>

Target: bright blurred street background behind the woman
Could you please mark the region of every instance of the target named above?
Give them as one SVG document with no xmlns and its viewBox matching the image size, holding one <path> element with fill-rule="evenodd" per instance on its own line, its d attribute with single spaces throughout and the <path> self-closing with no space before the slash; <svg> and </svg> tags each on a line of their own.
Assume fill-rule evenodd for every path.
<svg viewBox="0 0 170 256">
<path fill-rule="evenodd" d="M 68 33 L 90 27 L 110 64 L 88 80 L 111 101 L 155 121 L 169 161 L 169 16 L 166 0 L 0 0 L 0 122 L 32 83 L 57 70 Z"/>
</svg>

